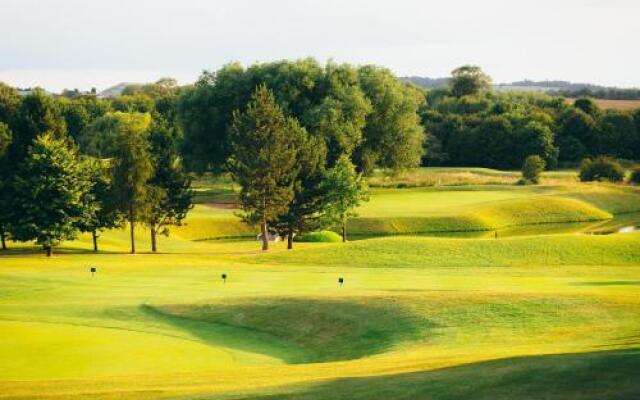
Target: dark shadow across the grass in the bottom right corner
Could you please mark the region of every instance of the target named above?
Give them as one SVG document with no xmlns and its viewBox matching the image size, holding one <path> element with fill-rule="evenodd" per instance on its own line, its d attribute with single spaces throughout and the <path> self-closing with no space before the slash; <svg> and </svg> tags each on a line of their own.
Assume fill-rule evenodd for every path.
<svg viewBox="0 0 640 400">
<path fill-rule="evenodd" d="M 428 372 L 348 378 L 275 393 L 190 400 L 636 400 L 640 349 L 518 357 Z"/>
</svg>

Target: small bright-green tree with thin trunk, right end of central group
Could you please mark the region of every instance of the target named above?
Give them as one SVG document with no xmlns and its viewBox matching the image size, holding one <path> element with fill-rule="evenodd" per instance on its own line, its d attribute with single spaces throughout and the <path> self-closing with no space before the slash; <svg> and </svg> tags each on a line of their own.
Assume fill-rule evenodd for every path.
<svg viewBox="0 0 640 400">
<path fill-rule="evenodd" d="M 324 188 L 327 191 L 327 216 L 341 225 L 342 241 L 346 242 L 347 219 L 356 216 L 353 210 L 369 199 L 366 182 L 351 161 L 342 157 L 327 172 Z"/>
</svg>

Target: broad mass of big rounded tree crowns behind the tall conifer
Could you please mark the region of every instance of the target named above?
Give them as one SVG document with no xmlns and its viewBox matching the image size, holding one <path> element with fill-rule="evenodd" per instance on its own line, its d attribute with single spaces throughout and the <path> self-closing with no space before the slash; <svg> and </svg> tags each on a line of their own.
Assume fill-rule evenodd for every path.
<svg viewBox="0 0 640 400">
<path fill-rule="evenodd" d="M 424 134 L 416 110 L 424 101 L 421 91 L 384 69 L 332 63 L 323 68 L 313 59 L 303 59 L 255 64 L 247 69 L 230 64 L 203 74 L 193 87 L 185 89 L 178 98 L 177 120 L 184 132 L 188 169 L 225 169 L 231 155 L 233 111 L 244 107 L 260 84 L 272 90 L 286 116 L 296 118 L 311 135 L 323 138 L 329 166 L 341 155 L 356 152 L 359 160 L 367 161 L 368 170 L 419 165 Z M 385 114 L 380 114 L 383 109 Z M 376 112 L 379 115 L 374 118 Z"/>
</svg>

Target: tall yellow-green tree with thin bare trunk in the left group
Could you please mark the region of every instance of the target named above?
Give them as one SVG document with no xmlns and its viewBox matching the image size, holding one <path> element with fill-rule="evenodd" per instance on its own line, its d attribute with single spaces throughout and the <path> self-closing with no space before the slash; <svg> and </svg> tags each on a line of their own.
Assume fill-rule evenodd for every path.
<svg viewBox="0 0 640 400">
<path fill-rule="evenodd" d="M 147 182 L 153 175 L 148 141 L 149 114 L 114 113 L 112 182 L 115 204 L 126 215 L 131 253 L 136 252 L 135 226 L 149 210 Z"/>
</svg>

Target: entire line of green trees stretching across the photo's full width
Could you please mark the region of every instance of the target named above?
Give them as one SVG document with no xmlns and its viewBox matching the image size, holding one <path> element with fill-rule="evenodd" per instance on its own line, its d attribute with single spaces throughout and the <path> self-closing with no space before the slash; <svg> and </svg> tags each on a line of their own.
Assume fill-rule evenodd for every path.
<svg viewBox="0 0 640 400">
<path fill-rule="evenodd" d="M 640 111 L 497 93 L 480 68 L 424 90 L 376 66 L 313 59 L 205 71 L 196 83 L 130 85 L 99 99 L 27 96 L 0 84 L 0 234 L 50 249 L 144 225 L 156 236 L 192 206 L 191 173 L 229 173 L 263 246 L 346 220 L 365 176 L 420 165 L 530 170 L 586 157 L 640 159 Z M 534 162 L 535 161 L 535 162 Z"/>
</svg>

